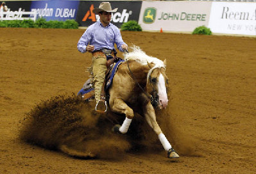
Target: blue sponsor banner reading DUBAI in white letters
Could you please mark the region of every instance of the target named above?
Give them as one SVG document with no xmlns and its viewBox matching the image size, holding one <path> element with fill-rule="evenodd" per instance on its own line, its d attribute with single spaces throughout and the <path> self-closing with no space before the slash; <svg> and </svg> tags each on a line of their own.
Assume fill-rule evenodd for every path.
<svg viewBox="0 0 256 174">
<path fill-rule="evenodd" d="M 76 19 L 79 1 L 32 1 L 31 12 L 46 20 Z"/>
</svg>

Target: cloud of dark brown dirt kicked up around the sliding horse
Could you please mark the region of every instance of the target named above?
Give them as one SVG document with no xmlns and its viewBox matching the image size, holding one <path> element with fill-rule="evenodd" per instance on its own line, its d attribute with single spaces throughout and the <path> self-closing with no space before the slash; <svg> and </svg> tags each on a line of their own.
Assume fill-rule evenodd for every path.
<svg viewBox="0 0 256 174">
<path fill-rule="evenodd" d="M 145 119 L 135 113 L 129 131 L 115 134 L 112 127 L 123 123 L 124 115 L 108 109 L 94 111 L 95 102 L 85 102 L 76 95 L 56 96 L 37 104 L 22 120 L 20 138 L 34 145 L 85 159 L 118 158 L 126 152 L 163 150 L 157 135 Z M 168 107 L 167 107 L 168 108 Z M 171 120 L 171 111 L 156 111 L 157 121 L 167 139 L 179 154 L 195 155 L 184 132 L 178 131 Z"/>
</svg>

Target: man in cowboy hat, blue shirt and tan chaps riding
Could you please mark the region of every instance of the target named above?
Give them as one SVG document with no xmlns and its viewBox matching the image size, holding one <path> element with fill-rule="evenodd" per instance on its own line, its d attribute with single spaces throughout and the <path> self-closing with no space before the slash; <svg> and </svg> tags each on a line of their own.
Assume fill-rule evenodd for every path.
<svg viewBox="0 0 256 174">
<path fill-rule="evenodd" d="M 99 15 L 99 21 L 95 22 L 81 36 L 78 41 L 78 51 L 92 53 L 92 73 L 94 93 L 96 99 L 96 110 L 105 110 L 105 99 L 101 97 L 103 82 L 105 81 L 105 72 L 107 70 L 106 62 L 116 54 L 114 44 L 119 51 L 126 51 L 128 45 L 123 42 L 119 29 L 110 23 L 112 12 L 110 3 L 103 2 L 99 8 L 94 8 L 92 12 Z"/>
</svg>

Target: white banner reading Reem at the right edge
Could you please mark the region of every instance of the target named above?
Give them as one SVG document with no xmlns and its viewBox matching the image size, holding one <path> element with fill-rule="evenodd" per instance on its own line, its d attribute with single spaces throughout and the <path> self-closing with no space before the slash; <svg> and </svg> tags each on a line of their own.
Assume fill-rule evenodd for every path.
<svg viewBox="0 0 256 174">
<path fill-rule="evenodd" d="M 256 3 L 212 3 L 213 33 L 256 35 Z"/>
</svg>

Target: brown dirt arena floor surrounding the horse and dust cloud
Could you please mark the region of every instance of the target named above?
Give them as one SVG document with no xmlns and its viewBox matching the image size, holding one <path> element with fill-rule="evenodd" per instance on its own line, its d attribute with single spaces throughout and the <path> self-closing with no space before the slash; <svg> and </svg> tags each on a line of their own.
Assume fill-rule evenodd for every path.
<svg viewBox="0 0 256 174">
<path fill-rule="evenodd" d="M 122 32 L 128 45 L 167 59 L 176 161 L 164 150 L 78 159 L 21 141 L 26 113 L 77 93 L 87 79 L 90 54 L 76 49 L 83 32 L 0 28 L 0 173 L 256 173 L 256 38 L 249 37 Z"/>
</svg>

